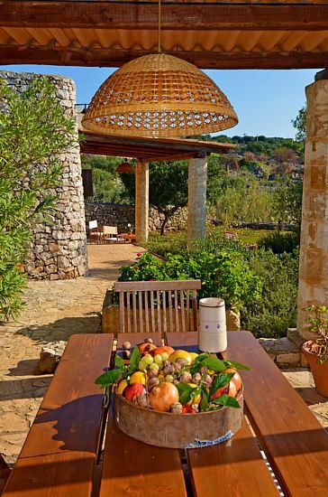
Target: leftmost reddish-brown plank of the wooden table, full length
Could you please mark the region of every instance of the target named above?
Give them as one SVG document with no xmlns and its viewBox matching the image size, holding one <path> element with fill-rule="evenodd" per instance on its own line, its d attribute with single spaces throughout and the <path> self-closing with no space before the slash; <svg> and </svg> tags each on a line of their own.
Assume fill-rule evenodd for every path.
<svg viewBox="0 0 328 497">
<path fill-rule="evenodd" d="M 111 334 L 73 335 L 32 424 L 4 497 L 89 497 L 104 414 L 95 384 L 109 366 Z"/>
</svg>

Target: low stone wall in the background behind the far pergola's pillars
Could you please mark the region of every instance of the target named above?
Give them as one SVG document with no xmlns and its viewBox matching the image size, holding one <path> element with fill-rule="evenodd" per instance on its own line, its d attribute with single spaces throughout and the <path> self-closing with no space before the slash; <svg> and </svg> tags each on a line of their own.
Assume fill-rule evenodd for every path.
<svg viewBox="0 0 328 497">
<path fill-rule="evenodd" d="M 149 227 L 150 231 L 159 230 L 161 219 L 158 211 L 150 207 Z M 134 229 L 134 205 L 115 203 L 86 203 L 87 233 L 90 220 L 97 220 L 98 226 L 117 226 L 118 230 L 124 232 L 128 230 L 127 225 L 131 224 Z M 168 228 L 180 230 L 187 226 L 187 208 L 179 209 L 171 220 Z"/>
</svg>

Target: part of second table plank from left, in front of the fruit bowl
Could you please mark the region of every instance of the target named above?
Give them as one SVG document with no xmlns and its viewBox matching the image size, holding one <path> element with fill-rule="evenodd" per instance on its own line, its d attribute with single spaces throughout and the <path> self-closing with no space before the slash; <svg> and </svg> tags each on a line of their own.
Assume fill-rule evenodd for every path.
<svg viewBox="0 0 328 497">
<path fill-rule="evenodd" d="M 187 495 L 178 449 L 142 444 L 126 436 L 110 417 L 100 497 Z"/>
</svg>

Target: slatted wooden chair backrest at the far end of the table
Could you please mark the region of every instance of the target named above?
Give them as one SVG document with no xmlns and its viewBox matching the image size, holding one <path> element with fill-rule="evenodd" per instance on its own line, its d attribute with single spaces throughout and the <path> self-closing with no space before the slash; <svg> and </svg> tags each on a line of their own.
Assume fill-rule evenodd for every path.
<svg viewBox="0 0 328 497">
<path fill-rule="evenodd" d="M 199 279 L 116 281 L 120 294 L 120 332 L 196 332 Z"/>
</svg>

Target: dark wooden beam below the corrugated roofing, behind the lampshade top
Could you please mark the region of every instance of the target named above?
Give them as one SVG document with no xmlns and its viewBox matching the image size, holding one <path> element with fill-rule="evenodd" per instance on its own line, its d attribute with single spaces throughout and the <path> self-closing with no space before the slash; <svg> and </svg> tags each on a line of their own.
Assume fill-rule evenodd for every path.
<svg viewBox="0 0 328 497">
<path fill-rule="evenodd" d="M 58 46 L 0 46 L 2 64 L 55 64 L 120 67 L 152 51 Z M 325 68 L 328 52 L 166 52 L 201 69 L 317 69 Z"/>
</svg>

